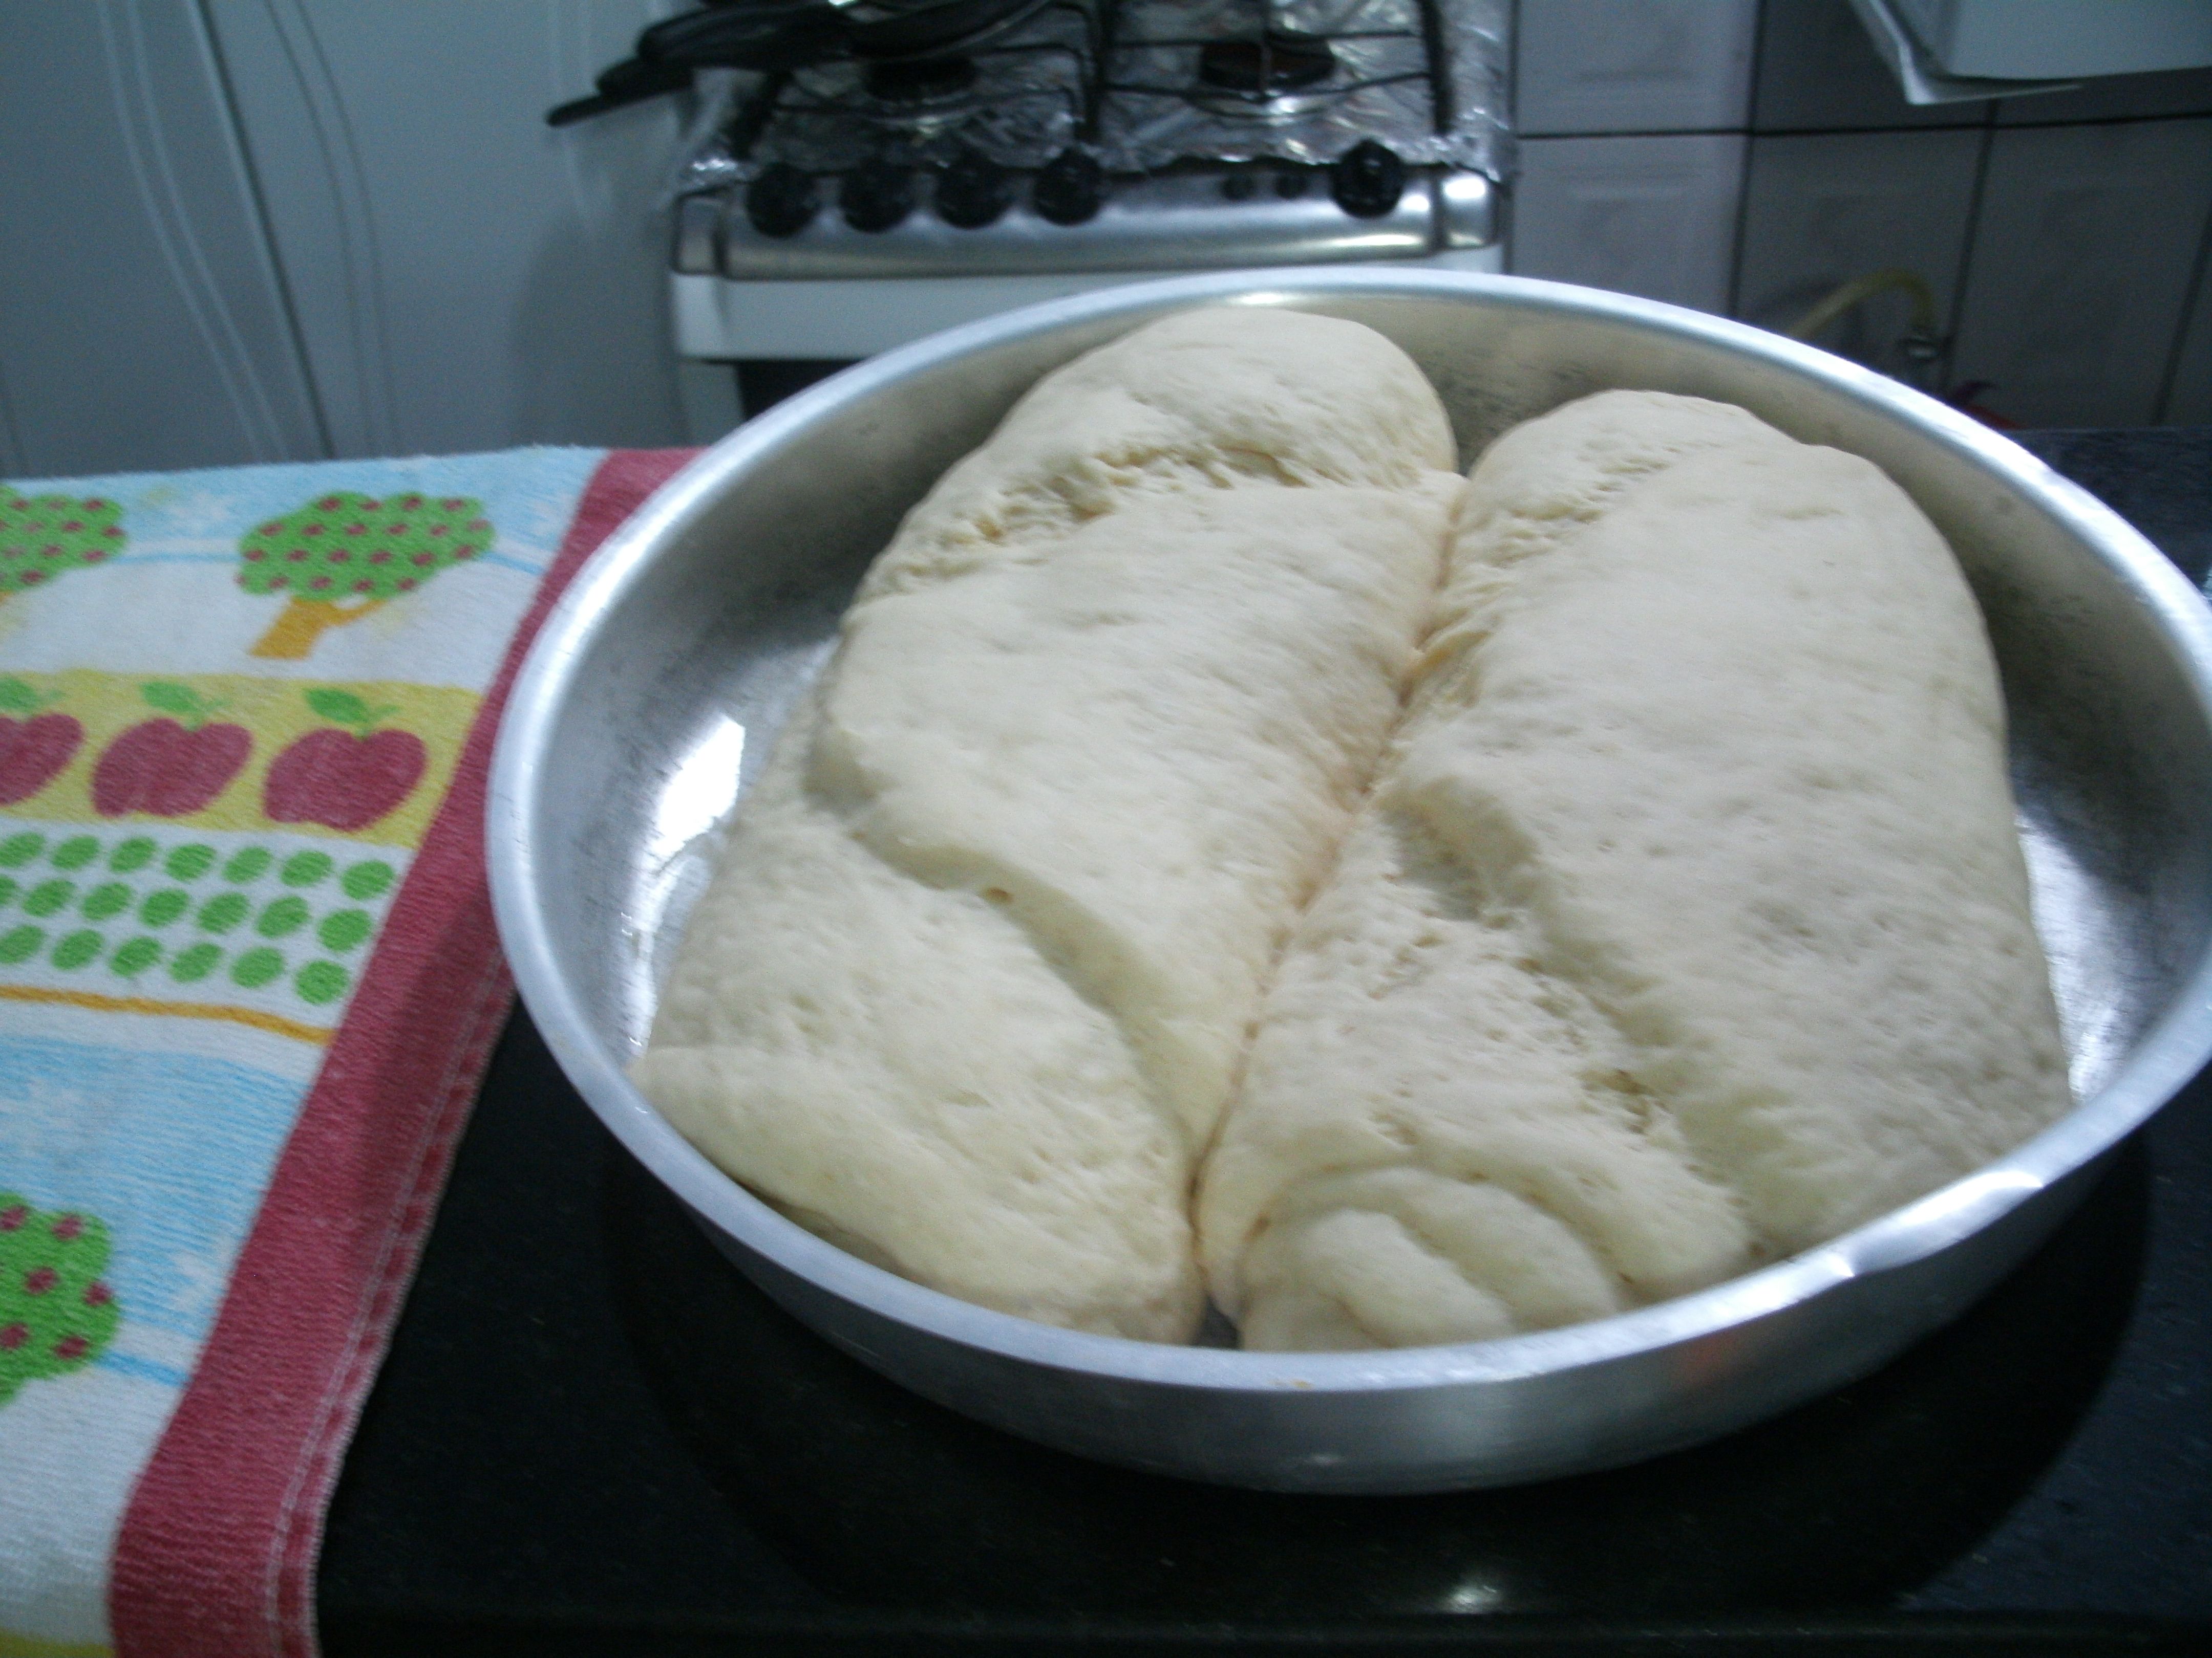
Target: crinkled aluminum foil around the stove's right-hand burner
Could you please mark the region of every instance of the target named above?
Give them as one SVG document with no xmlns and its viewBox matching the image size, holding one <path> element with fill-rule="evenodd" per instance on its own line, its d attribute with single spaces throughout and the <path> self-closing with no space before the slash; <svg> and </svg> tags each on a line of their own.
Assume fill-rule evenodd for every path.
<svg viewBox="0 0 2212 1658">
<path fill-rule="evenodd" d="M 1250 38 L 1263 18 L 1270 29 L 1327 40 L 1329 80 L 1267 102 L 1192 97 L 1201 46 Z M 1108 55 L 1099 159 L 1115 172 L 1188 159 L 1318 166 L 1376 139 L 1413 166 L 1502 179 L 1511 170 L 1509 46 L 1509 0 L 1126 0 Z"/>
</svg>

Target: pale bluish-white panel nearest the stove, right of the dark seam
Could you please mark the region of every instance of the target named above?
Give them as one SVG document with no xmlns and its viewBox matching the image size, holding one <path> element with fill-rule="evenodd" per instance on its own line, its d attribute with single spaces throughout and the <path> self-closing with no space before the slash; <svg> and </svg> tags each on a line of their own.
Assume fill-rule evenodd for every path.
<svg viewBox="0 0 2212 1658">
<path fill-rule="evenodd" d="M 670 99 L 553 130 L 657 0 L 208 0 L 341 455 L 681 442 Z"/>
</svg>

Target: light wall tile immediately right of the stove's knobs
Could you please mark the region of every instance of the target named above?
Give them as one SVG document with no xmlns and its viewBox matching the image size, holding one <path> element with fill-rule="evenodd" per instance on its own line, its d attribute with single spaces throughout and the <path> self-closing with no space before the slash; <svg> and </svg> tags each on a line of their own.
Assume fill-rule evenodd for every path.
<svg viewBox="0 0 2212 1658">
<path fill-rule="evenodd" d="M 1743 137 L 1526 139 L 1506 267 L 1728 309 Z"/>
</svg>

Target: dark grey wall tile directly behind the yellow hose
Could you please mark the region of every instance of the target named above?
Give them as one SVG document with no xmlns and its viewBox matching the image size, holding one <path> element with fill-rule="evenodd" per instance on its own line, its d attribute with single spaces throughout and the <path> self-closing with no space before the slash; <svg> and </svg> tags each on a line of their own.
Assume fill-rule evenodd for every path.
<svg viewBox="0 0 2212 1658">
<path fill-rule="evenodd" d="M 1752 139 L 1736 314 L 1787 329 L 1854 276 L 1896 267 L 1936 290 L 1938 327 L 1949 332 L 1984 141 L 1960 128 Z M 1898 374 L 1909 323 L 1911 301 L 1889 292 L 1816 345 Z"/>
</svg>

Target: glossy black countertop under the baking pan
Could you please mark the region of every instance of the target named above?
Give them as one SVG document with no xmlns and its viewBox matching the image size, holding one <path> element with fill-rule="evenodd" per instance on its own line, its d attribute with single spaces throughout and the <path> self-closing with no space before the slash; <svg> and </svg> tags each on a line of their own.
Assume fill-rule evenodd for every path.
<svg viewBox="0 0 2212 1658">
<path fill-rule="evenodd" d="M 2212 429 L 2031 449 L 2199 584 Z M 2199 1651 L 2212 1074 L 1955 1326 L 1778 1421 L 1453 1497 L 1040 1450 L 737 1276 L 518 1012 L 330 1510 L 332 1654 Z"/>
</svg>

